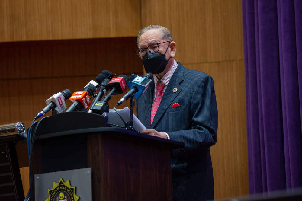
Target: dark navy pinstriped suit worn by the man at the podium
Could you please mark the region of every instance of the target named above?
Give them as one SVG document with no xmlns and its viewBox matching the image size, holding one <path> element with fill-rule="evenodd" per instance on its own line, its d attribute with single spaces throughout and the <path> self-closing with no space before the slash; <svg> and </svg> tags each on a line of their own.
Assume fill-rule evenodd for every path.
<svg viewBox="0 0 302 201">
<path fill-rule="evenodd" d="M 176 200 L 214 199 L 210 146 L 217 140 L 214 81 L 204 72 L 179 62 L 150 126 L 154 80 L 137 99 L 137 117 L 146 126 L 167 132 L 185 148 L 172 150 L 173 197 Z M 176 91 L 176 92 L 174 92 Z M 172 107 L 178 103 L 178 107 Z"/>
</svg>

